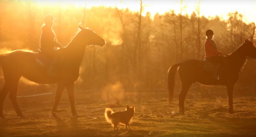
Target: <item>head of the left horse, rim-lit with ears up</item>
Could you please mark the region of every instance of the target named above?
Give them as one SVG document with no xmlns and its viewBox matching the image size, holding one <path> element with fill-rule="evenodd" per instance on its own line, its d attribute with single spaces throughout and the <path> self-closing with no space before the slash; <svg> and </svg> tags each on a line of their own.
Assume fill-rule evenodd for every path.
<svg viewBox="0 0 256 137">
<path fill-rule="evenodd" d="M 78 26 L 81 31 L 79 32 L 82 39 L 84 39 L 84 44 L 85 45 L 99 45 L 99 46 L 104 46 L 105 45 L 105 40 L 102 39 L 98 34 L 96 34 L 94 31 L 91 29 L 84 28 L 82 26 Z"/>
</svg>

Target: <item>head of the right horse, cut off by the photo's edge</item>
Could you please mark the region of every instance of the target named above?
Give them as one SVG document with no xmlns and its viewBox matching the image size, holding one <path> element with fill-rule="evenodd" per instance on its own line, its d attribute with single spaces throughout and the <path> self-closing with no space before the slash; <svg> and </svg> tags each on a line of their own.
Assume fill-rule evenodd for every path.
<svg viewBox="0 0 256 137">
<path fill-rule="evenodd" d="M 256 59 L 256 47 L 254 47 L 254 44 L 248 39 L 244 39 L 242 45 L 244 46 L 244 53 L 246 56 Z"/>
</svg>

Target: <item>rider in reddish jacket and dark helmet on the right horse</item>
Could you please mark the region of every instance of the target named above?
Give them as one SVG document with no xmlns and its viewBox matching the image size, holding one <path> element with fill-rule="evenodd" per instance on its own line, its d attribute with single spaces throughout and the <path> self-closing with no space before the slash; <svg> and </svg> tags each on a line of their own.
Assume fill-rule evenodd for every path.
<svg viewBox="0 0 256 137">
<path fill-rule="evenodd" d="M 214 35 L 213 31 L 208 29 L 205 35 L 207 37 L 204 43 L 205 59 L 214 64 L 220 64 L 220 69 L 216 69 L 214 72 L 214 78 L 219 79 L 220 72 L 223 72 L 227 68 L 227 59 L 223 56 L 222 52 L 217 50 L 216 44 L 212 40 Z"/>
</svg>

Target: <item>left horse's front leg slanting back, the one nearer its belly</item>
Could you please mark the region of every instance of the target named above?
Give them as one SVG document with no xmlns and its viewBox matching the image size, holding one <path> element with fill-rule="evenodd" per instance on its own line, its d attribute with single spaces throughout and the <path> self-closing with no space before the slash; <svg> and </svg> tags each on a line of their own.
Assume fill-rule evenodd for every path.
<svg viewBox="0 0 256 137">
<path fill-rule="evenodd" d="M 60 101 L 61 94 L 62 94 L 65 87 L 66 87 L 65 84 L 58 84 L 58 88 L 57 88 L 56 94 L 55 94 L 54 105 L 52 107 L 52 114 L 55 117 L 56 117 L 56 112 L 57 112 L 57 106 L 58 106 L 58 103 Z"/>
</svg>

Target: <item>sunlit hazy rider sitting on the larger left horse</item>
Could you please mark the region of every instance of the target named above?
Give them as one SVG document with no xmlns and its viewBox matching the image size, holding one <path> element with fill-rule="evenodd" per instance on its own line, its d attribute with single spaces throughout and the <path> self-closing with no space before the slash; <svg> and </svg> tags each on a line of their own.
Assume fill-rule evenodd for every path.
<svg viewBox="0 0 256 137">
<path fill-rule="evenodd" d="M 54 74 L 54 64 L 56 61 L 56 49 L 55 47 L 61 47 L 62 45 L 57 42 L 55 37 L 55 33 L 52 30 L 52 26 L 54 23 L 54 17 L 52 14 L 47 14 L 44 16 L 44 24 L 41 27 L 42 33 L 40 37 L 40 49 L 44 55 L 48 59 L 51 60 L 50 68 L 48 70 L 48 75 L 55 75 Z"/>
</svg>

